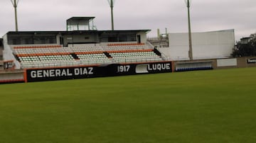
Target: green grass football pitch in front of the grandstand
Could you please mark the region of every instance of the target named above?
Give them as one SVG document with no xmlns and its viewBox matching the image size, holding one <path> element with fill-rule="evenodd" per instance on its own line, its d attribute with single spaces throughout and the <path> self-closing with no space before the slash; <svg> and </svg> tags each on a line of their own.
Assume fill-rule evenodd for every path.
<svg viewBox="0 0 256 143">
<path fill-rule="evenodd" d="M 0 142 L 256 142 L 256 68 L 0 85 Z"/>
</svg>

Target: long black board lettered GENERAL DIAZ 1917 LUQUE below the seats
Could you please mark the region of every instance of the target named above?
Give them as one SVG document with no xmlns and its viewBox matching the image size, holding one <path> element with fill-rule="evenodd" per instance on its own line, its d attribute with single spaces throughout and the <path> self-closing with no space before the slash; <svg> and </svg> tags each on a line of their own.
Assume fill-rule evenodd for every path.
<svg viewBox="0 0 256 143">
<path fill-rule="evenodd" d="M 26 82 L 86 79 L 102 76 L 124 76 L 134 74 L 156 74 L 171 72 L 171 62 L 142 64 L 108 64 L 92 67 L 56 67 L 26 69 Z"/>
</svg>

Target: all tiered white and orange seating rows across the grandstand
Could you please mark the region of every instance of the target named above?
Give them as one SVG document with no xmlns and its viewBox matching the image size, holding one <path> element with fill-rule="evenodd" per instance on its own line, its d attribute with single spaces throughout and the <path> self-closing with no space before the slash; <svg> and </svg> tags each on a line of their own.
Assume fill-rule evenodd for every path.
<svg viewBox="0 0 256 143">
<path fill-rule="evenodd" d="M 161 57 L 145 44 L 60 45 L 14 47 L 22 68 L 92 64 L 158 62 Z"/>
</svg>

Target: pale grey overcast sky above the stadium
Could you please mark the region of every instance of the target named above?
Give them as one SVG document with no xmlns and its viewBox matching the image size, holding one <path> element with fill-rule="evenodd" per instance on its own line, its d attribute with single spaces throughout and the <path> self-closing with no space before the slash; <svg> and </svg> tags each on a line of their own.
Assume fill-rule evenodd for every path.
<svg viewBox="0 0 256 143">
<path fill-rule="evenodd" d="M 11 0 L 0 0 L 0 36 L 15 30 Z M 111 29 L 107 0 L 19 0 L 18 30 L 65 30 L 73 16 L 95 16 L 98 30 Z M 185 0 L 115 0 L 114 29 L 156 29 L 165 33 L 188 31 Z M 256 33 L 255 0 L 191 0 L 191 30 L 235 29 L 235 39 Z"/>
</svg>

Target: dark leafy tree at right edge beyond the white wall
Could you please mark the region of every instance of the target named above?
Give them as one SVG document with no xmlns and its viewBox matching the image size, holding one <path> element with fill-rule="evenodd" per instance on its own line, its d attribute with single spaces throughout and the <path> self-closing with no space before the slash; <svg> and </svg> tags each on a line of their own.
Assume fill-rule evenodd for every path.
<svg viewBox="0 0 256 143">
<path fill-rule="evenodd" d="M 246 38 L 247 42 L 240 40 L 235 46 L 232 56 L 233 57 L 249 57 L 256 56 L 256 33 Z"/>
</svg>

